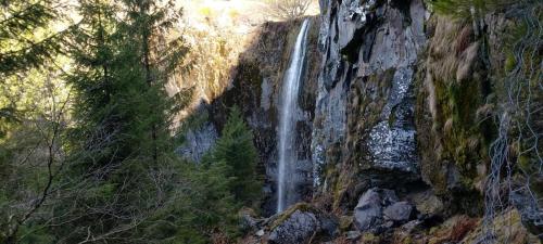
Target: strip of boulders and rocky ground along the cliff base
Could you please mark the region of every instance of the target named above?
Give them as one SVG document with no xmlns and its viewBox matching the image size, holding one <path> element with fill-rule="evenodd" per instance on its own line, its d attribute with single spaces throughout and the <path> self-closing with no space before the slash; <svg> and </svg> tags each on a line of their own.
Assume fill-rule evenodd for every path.
<svg viewBox="0 0 543 244">
<path fill-rule="evenodd" d="M 429 206 L 431 206 L 429 208 Z M 491 223 L 467 215 L 445 216 L 438 197 L 419 192 L 399 197 L 393 190 L 372 188 L 362 194 L 348 215 L 336 215 L 318 203 L 299 203 L 268 218 L 251 209 L 240 211 L 245 244 L 452 244 L 539 243 L 507 209 Z M 492 230 L 492 231 L 489 231 Z"/>
</svg>

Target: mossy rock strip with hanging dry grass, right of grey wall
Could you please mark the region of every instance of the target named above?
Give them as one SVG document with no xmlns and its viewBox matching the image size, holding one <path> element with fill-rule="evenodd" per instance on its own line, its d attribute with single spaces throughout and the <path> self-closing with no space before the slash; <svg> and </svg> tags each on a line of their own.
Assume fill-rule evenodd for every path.
<svg viewBox="0 0 543 244">
<path fill-rule="evenodd" d="M 477 187 L 485 171 L 480 169 L 490 162 L 493 137 L 493 125 L 478 116 L 490 94 L 481 46 L 468 24 L 432 18 L 435 33 L 416 75 L 421 174 L 451 211 L 477 215 L 482 210 Z"/>
</svg>

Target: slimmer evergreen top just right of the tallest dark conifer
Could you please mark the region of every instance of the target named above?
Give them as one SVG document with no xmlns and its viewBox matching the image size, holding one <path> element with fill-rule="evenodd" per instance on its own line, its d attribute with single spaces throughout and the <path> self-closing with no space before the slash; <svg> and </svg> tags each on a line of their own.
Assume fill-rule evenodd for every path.
<svg viewBox="0 0 543 244">
<path fill-rule="evenodd" d="M 132 44 L 139 57 L 138 63 L 149 90 L 160 93 L 162 99 L 149 98 L 152 110 L 146 114 L 149 118 L 151 140 L 150 153 L 154 164 L 157 164 L 160 152 L 165 144 L 160 138 L 168 136 L 171 115 L 176 114 L 186 104 L 187 93 L 180 92 L 172 99 L 164 91 L 168 77 L 178 67 L 187 49 L 181 38 L 168 37 L 176 20 L 180 17 L 180 10 L 176 11 L 174 1 L 153 0 L 124 0 L 127 9 L 127 20 L 122 23 L 121 31 L 127 34 L 127 43 Z M 139 65 L 138 65 L 139 64 Z M 154 90 L 154 91 L 152 91 Z"/>
</svg>

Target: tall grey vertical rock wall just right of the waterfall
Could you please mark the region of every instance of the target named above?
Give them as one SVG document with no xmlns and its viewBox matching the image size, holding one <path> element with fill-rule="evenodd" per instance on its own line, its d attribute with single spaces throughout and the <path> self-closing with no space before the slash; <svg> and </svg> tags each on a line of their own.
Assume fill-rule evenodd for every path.
<svg viewBox="0 0 543 244">
<path fill-rule="evenodd" d="M 420 0 L 323 4 L 312 150 L 317 191 L 338 207 L 419 178 L 414 80 L 427 12 Z"/>
</svg>

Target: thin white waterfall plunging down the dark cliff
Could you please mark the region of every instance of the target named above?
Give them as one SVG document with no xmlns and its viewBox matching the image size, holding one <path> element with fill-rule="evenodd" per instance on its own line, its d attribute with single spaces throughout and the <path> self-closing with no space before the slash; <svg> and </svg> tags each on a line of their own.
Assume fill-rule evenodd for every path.
<svg viewBox="0 0 543 244">
<path fill-rule="evenodd" d="M 298 94 L 303 75 L 306 52 L 308 20 L 305 20 L 298 34 L 296 43 L 291 56 L 289 68 L 285 74 L 279 105 L 279 163 L 277 167 L 277 213 L 292 204 L 292 194 L 295 194 L 293 172 L 296 163 L 296 146 L 294 144 L 296 131 Z"/>
</svg>

